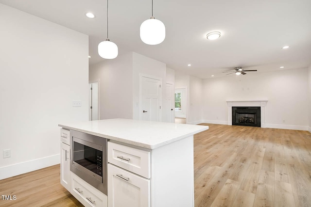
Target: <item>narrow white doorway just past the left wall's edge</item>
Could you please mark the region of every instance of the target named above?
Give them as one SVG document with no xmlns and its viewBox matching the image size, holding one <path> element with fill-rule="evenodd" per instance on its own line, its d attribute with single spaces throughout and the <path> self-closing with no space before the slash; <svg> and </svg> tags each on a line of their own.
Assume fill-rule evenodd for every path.
<svg viewBox="0 0 311 207">
<path fill-rule="evenodd" d="M 99 81 L 89 83 L 88 120 L 99 120 Z"/>
</svg>

